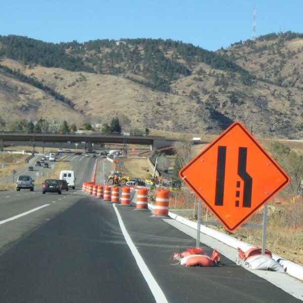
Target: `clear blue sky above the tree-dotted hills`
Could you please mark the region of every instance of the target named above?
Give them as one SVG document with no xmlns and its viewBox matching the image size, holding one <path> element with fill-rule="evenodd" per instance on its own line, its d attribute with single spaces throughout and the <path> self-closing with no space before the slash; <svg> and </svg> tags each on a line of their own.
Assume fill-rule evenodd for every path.
<svg viewBox="0 0 303 303">
<path fill-rule="evenodd" d="M 47 42 L 171 38 L 215 51 L 252 36 L 303 32 L 303 0 L 0 0 L 0 35 Z"/>
</svg>

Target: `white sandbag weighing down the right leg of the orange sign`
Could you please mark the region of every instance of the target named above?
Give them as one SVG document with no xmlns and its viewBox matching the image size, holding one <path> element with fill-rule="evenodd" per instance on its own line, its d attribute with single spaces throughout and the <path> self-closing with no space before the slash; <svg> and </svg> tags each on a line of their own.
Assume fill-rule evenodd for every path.
<svg viewBox="0 0 303 303">
<path fill-rule="evenodd" d="M 248 258 L 246 261 L 239 259 L 237 264 L 250 269 L 271 270 L 281 273 L 284 272 L 283 267 L 273 258 L 268 256 L 253 256 Z"/>
</svg>

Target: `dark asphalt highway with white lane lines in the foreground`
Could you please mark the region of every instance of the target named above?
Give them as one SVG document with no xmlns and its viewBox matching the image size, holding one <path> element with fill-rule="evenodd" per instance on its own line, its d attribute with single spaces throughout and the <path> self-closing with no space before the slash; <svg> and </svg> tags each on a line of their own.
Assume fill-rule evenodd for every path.
<svg viewBox="0 0 303 303">
<path fill-rule="evenodd" d="M 224 256 L 222 267 L 172 265 L 173 252 L 194 247 L 193 238 L 149 212 L 80 191 L 95 161 L 99 180 L 111 163 L 67 161 L 75 190 L 0 193 L 0 302 L 301 302 Z"/>
</svg>

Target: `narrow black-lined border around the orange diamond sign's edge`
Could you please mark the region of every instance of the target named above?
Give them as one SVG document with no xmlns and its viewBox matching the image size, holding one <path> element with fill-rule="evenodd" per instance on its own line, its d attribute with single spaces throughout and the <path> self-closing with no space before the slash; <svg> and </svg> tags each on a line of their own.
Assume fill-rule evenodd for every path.
<svg viewBox="0 0 303 303">
<path fill-rule="evenodd" d="M 269 159 L 269 161 L 280 171 L 280 173 L 285 177 L 286 181 L 283 182 L 275 191 L 273 191 L 270 195 L 267 196 L 265 200 L 263 200 L 257 207 L 255 207 L 249 214 L 247 214 L 238 224 L 236 224 L 233 228 L 230 228 L 228 224 L 224 222 L 224 220 L 217 214 L 217 212 L 209 205 L 206 199 L 191 185 L 191 183 L 186 180 L 186 176 L 184 176 L 184 171 L 193 165 L 197 160 L 199 160 L 207 151 L 215 145 L 221 138 L 223 138 L 227 133 L 229 133 L 235 126 L 239 126 L 245 134 L 256 144 L 256 146 L 260 149 L 260 151 Z M 231 126 L 229 126 L 221 135 L 219 135 L 213 142 L 210 143 L 200 154 L 195 156 L 191 161 L 189 161 L 180 171 L 180 178 L 187 184 L 187 186 L 195 193 L 195 195 L 200 198 L 203 203 L 211 210 L 211 212 L 216 216 L 216 218 L 225 226 L 225 228 L 231 232 L 235 231 L 242 224 L 245 223 L 250 217 L 252 217 L 266 202 L 272 198 L 277 192 L 282 190 L 290 181 L 289 176 L 284 172 L 284 170 L 279 166 L 279 164 L 267 153 L 267 151 L 262 147 L 262 145 L 248 132 L 248 130 L 244 127 L 244 125 L 240 122 L 234 122 Z"/>
</svg>

